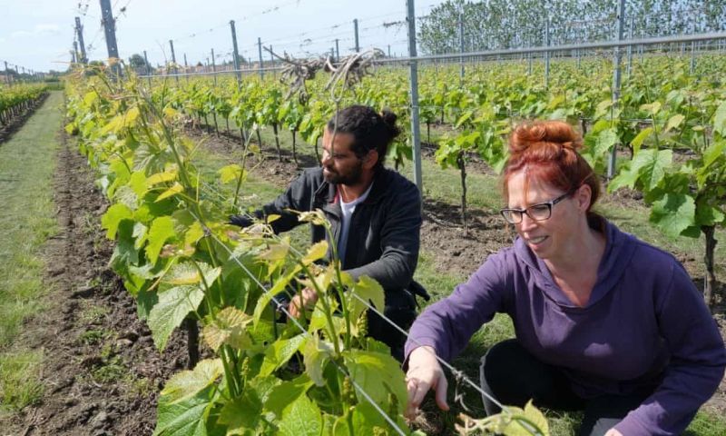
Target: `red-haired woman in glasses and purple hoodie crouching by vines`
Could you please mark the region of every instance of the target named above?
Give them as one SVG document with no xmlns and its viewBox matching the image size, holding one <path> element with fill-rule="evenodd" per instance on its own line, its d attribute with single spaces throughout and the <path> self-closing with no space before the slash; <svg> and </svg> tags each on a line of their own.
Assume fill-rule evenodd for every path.
<svg viewBox="0 0 726 436">
<path fill-rule="evenodd" d="M 482 359 L 483 390 L 584 411 L 580 434 L 679 434 L 716 390 L 726 351 L 701 295 L 671 254 L 592 212 L 600 186 L 581 146 L 562 122 L 511 135 L 502 215 L 519 237 L 412 326 L 409 415 L 432 388 L 448 410 L 434 353 L 454 358 L 495 312 L 509 314 L 516 339 Z"/>
</svg>

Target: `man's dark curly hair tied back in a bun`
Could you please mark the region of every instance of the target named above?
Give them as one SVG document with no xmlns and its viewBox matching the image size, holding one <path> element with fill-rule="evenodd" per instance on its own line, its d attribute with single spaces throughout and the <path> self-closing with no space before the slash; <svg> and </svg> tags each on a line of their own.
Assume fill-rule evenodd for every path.
<svg viewBox="0 0 726 436">
<path fill-rule="evenodd" d="M 401 133 L 396 126 L 397 115 L 384 109 L 378 114 L 372 107 L 352 105 L 338 111 L 338 130 L 341 134 L 352 134 L 351 149 L 358 158 L 363 158 L 370 150 L 378 151 L 378 163 L 383 165 L 388 145 Z M 328 122 L 329 132 L 335 129 L 336 117 Z"/>
</svg>

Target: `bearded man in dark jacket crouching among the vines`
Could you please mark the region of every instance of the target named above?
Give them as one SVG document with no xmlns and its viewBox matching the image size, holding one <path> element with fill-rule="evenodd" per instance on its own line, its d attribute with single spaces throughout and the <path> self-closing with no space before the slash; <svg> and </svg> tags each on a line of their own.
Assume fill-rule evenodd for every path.
<svg viewBox="0 0 726 436">
<path fill-rule="evenodd" d="M 384 314 L 407 330 L 416 318 L 411 292 L 428 295 L 412 281 L 421 227 L 421 198 L 415 184 L 383 166 L 388 145 L 400 133 L 396 115 L 376 113 L 368 106 L 349 106 L 338 112 L 323 134 L 321 167 L 305 170 L 288 190 L 256 213 L 277 214 L 270 223 L 275 233 L 299 225 L 298 215 L 320 209 L 329 220 L 342 269 L 354 279 L 368 275 L 386 292 Z M 336 123 L 338 124 L 336 126 Z M 231 223 L 248 226 L 244 216 Z M 312 242 L 326 239 L 325 229 L 313 225 Z M 303 290 L 289 304 L 292 316 L 315 304 L 317 294 Z M 368 335 L 385 342 L 398 360 L 405 336 L 378 314 L 368 312 Z"/>
</svg>

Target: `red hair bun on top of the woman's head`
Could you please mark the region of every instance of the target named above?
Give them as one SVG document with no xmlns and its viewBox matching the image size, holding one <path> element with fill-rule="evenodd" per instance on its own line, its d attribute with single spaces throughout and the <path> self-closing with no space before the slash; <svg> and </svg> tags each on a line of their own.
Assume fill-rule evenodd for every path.
<svg viewBox="0 0 726 436">
<path fill-rule="evenodd" d="M 577 151 L 583 147 L 583 139 L 563 121 L 536 121 L 517 126 L 509 140 L 509 153 L 523 153 L 532 147 Z"/>
</svg>

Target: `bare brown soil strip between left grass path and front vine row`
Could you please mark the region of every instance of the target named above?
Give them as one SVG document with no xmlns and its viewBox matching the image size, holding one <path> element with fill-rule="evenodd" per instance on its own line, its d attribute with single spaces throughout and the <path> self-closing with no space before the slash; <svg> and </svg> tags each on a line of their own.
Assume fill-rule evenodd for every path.
<svg viewBox="0 0 726 436">
<path fill-rule="evenodd" d="M 177 332 L 165 352 L 154 348 L 136 303 L 108 267 L 113 246 L 99 226 L 107 204 L 65 137 L 54 184 L 60 233 L 45 256 L 53 291 L 21 339 L 44 350 L 44 397 L 0 433 L 151 434 L 158 391 L 186 366 L 185 340 Z"/>
</svg>

